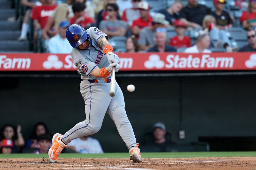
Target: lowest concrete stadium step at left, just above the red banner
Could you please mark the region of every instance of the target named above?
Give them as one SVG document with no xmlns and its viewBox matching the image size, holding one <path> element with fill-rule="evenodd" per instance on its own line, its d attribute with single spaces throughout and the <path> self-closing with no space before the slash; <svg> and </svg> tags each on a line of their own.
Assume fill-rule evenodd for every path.
<svg viewBox="0 0 256 170">
<path fill-rule="evenodd" d="M 29 51 L 28 41 L 0 41 L 0 51 Z"/>
</svg>

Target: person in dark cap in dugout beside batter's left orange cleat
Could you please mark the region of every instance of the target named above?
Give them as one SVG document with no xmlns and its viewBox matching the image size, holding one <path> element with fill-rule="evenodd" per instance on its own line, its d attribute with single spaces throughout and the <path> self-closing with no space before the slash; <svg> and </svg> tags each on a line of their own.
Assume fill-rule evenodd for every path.
<svg viewBox="0 0 256 170">
<path fill-rule="evenodd" d="M 52 137 L 49 134 L 42 134 L 37 137 L 39 148 L 37 148 L 33 153 L 48 153 L 50 147 L 52 146 Z"/>
</svg>

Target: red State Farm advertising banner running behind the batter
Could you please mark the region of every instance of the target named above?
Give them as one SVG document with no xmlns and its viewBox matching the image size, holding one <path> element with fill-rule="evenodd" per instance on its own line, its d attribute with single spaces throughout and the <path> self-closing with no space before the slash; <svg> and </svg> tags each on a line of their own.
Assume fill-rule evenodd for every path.
<svg viewBox="0 0 256 170">
<path fill-rule="evenodd" d="M 120 71 L 256 70 L 256 53 L 119 53 L 117 55 L 120 58 Z M 76 70 L 70 54 L 0 54 L 0 71 L 63 70 Z"/>
</svg>

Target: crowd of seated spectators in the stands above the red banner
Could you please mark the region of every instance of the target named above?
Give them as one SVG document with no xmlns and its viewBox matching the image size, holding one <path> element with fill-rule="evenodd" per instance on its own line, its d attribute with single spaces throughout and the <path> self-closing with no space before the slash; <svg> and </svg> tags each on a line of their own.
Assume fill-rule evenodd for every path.
<svg viewBox="0 0 256 170">
<path fill-rule="evenodd" d="M 209 47 L 224 48 L 227 52 L 238 51 L 232 45 L 227 34 L 235 22 L 234 17 L 224 10 L 225 0 L 213 0 L 215 10 L 198 0 L 187 0 L 184 6 L 180 0 L 173 2 L 167 9 L 153 14 L 146 1 L 141 0 L 22 0 L 27 7 L 19 41 L 27 39 L 28 20 L 34 25 L 34 41 L 42 33 L 46 52 L 70 53 L 72 48 L 66 40 L 65 30 L 71 24 L 79 24 L 85 29 L 98 27 L 109 38 L 127 37 L 125 50 L 119 52 L 182 52 L 210 53 Z M 241 26 L 246 30 L 256 27 L 256 0 L 236 0 L 236 5 L 248 7 L 240 17 Z M 174 27 L 176 36 L 167 38 L 166 29 Z M 186 35 L 189 30 L 196 30 L 198 38 L 191 41 Z M 40 35 L 41 36 L 41 35 Z M 249 36 L 250 48 L 240 51 L 255 51 L 254 36 Z M 41 38 L 41 37 L 40 37 Z"/>
</svg>

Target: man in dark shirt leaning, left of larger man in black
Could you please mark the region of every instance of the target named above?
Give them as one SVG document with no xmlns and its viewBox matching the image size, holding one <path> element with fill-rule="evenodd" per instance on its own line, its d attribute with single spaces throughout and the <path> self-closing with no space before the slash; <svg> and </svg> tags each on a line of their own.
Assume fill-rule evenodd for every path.
<svg viewBox="0 0 256 170">
<path fill-rule="evenodd" d="M 159 13 L 165 15 L 165 19 L 173 25 L 173 22 L 178 19 L 180 10 L 183 8 L 183 4 L 180 0 L 176 0 L 169 8 L 159 10 Z"/>
</svg>

